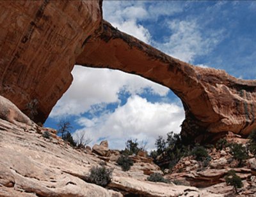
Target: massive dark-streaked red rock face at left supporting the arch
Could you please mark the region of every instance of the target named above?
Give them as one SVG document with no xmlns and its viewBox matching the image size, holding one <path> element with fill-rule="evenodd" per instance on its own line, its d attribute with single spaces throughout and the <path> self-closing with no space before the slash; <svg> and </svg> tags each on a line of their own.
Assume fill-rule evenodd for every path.
<svg viewBox="0 0 256 197">
<path fill-rule="evenodd" d="M 99 1 L 0 1 L 0 94 L 44 122 L 101 20 Z"/>
</svg>

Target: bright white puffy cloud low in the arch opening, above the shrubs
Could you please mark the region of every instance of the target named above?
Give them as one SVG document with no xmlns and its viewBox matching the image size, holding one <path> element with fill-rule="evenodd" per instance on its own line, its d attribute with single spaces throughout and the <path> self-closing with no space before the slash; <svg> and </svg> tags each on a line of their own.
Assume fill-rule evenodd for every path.
<svg viewBox="0 0 256 197">
<path fill-rule="evenodd" d="M 150 103 L 140 96 L 132 96 L 113 113 L 87 119 L 81 117 L 77 122 L 84 126 L 75 132 L 85 132 L 92 136 L 92 144 L 99 138 L 109 141 L 112 149 L 124 149 L 129 138 L 148 141 L 148 149 L 154 149 L 159 135 L 166 136 L 169 131 L 179 133 L 184 120 L 184 110 L 176 104 Z"/>
</svg>

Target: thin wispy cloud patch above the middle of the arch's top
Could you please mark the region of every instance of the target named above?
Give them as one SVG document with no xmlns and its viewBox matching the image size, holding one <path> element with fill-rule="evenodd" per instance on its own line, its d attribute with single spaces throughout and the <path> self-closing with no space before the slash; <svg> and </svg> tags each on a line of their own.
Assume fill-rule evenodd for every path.
<svg viewBox="0 0 256 197">
<path fill-rule="evenodd" d="M 171 20 L 168 26 L 172 32 L 168 41 L 155 45 L 182 61 L 193 62 L 196 56 L 207 54 L 221 41 L 222 31 L 211 32 L 206 38 L 196 20 Z"/>
</svg>

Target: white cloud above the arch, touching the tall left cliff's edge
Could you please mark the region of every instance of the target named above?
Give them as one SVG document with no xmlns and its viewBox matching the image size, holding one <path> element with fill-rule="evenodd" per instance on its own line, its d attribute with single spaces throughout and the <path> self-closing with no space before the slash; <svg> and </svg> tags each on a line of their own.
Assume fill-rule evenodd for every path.
<svg viewBox="0 0 256 197">
<path fill-rule="evenodd" d="M 104 1 L 103 17 L 120 31 L 151 43 L 147 28 L 140 24 L 143 20 L 157 20 L 160 16 L 171 16 L 183 10 L 180 3 L 150 1 Z M 115 14 L 113 14 L 115 13 Z"/>
</svg>

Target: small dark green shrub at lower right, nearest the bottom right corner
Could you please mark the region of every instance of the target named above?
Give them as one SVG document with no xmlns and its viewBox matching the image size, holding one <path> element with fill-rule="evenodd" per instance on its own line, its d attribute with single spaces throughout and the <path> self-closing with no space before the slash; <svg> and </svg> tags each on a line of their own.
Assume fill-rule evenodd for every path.
<svg viewBox="0 0 256 197">
<path fill-rule="evenodd" d="M 243 165 L 243 161 L 248 158 L 248 152 L 245 147 L 241 143 L 232 143 L 231 147 L 231 154 L 234 159 L 237 159 L 238 166 Z"/>
</svg>

